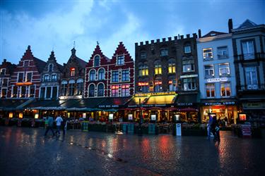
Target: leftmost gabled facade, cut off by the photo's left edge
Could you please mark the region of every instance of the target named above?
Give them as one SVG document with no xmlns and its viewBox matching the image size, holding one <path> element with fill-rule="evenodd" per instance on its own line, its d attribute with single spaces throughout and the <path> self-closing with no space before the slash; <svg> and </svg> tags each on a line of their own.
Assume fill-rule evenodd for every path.
<svg viewBox="0 0 265 176">
<path fill-rule="evenodd" d="M 16 68 L 15 64 L 7 62 L 6 59 L 0 65 L 0 98 L 6 99 L 11 96 L 11 75 Z"/>
</svg>

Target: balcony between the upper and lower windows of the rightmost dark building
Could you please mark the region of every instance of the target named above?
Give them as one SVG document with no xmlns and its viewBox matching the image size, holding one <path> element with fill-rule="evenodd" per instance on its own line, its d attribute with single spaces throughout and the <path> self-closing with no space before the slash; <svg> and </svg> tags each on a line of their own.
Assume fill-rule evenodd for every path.
<svg viewBox="0 0 265 176">
<path fill-rule="evenodd" d="M 259 62 L 264 60 L 264 53 L 256 53 L 256 54 L 241 54 L 235 56 L 235 63 L 252 63 Z"/>
</svg>

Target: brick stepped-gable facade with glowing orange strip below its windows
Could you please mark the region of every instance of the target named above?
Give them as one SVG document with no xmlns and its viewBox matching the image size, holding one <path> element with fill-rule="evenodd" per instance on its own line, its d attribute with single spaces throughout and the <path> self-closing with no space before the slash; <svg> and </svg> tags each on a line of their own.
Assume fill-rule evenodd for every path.
<svg viewBox="0 0 265 176">
<path fill-rule="evenodd" d="M 41 73 L 46 63 L 33 56 L 30 46 L 11 75 L 11 98 L 39 98 Z"/>
</svg>

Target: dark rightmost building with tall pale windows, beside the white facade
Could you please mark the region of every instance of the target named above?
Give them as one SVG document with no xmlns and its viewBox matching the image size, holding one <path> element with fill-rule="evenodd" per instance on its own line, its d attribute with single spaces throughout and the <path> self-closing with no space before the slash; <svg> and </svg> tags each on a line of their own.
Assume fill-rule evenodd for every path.
<svg viewBox="0 0 265 176">
<path fill-rule="evenodd" d="M 265 115 L 265 25 L 245 20 L 232 30 L 232 44 L 240 112 L 259 118 Z"/>
</svg>

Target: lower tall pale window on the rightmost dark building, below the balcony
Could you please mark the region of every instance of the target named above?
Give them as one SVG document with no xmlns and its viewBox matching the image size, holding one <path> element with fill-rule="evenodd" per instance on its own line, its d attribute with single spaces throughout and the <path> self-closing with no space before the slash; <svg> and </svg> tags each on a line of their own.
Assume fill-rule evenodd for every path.
<svg viewBox="0 0 265 176">
<path fill-rule="evenodd" d="M 245 72 L 247 80 L 247 89 L 258 89 L 257 68 L 246 67 Z"/>
</svg>

